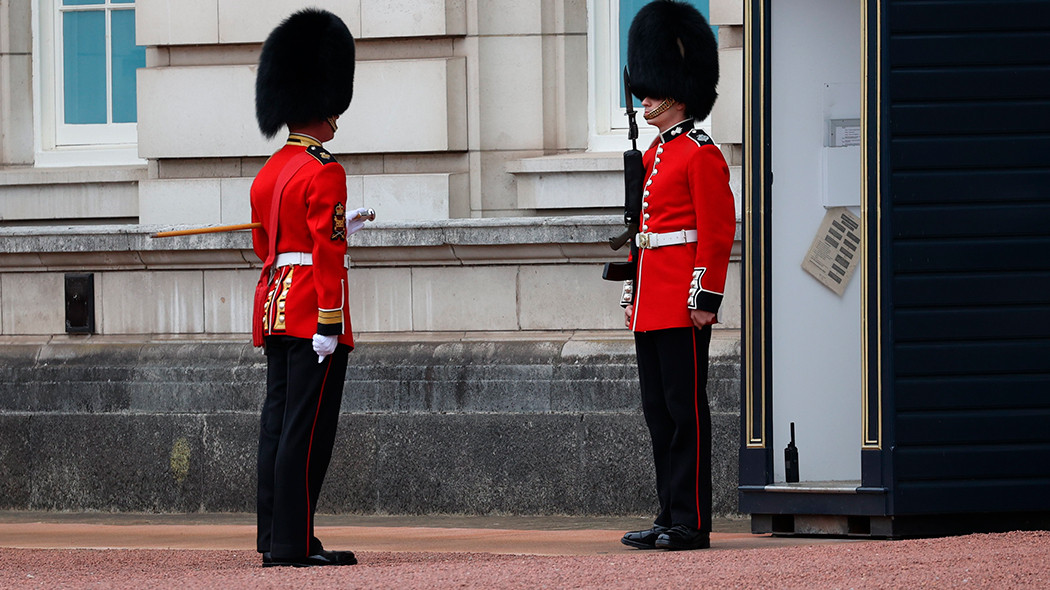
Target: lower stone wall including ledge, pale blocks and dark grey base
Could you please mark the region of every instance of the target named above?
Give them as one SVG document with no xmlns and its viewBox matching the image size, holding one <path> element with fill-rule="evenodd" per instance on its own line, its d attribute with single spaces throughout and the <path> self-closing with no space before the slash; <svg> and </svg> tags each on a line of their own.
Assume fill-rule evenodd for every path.
<svg viewBox="0 0 1050 590">
<path fill-rule="evenodd" d="M 653 511 L 614 217 L 377 223 L 322 510 Z M 0 508 L 250 511 L 264 357 L 247 233 L 0 228 Z M 93 273 L 97 331 L 64 331 Z M 736 510 L 736 262 L 712 345 L 716 511 Z"/>
</svg>

